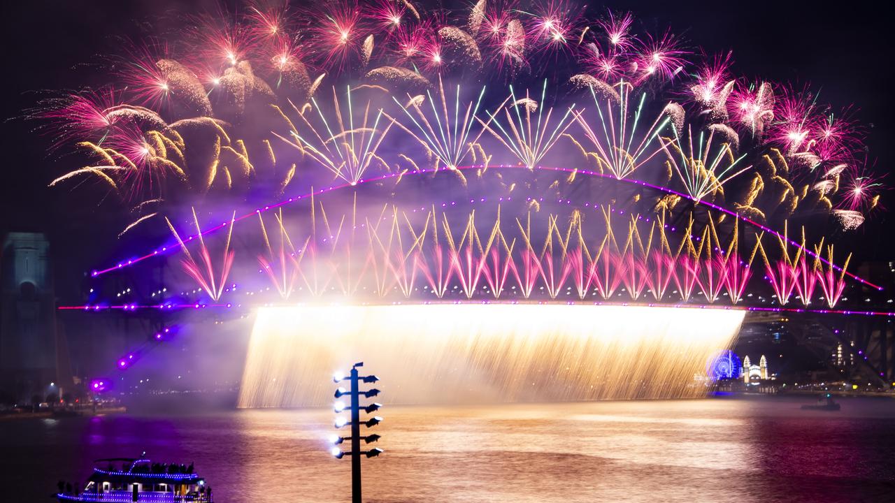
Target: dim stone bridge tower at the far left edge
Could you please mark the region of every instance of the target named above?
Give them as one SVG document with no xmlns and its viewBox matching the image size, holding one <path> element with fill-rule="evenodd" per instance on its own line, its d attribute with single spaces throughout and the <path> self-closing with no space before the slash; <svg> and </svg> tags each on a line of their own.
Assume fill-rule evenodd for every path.
<svg viewBox="0 0 895 503">
<path fill-rule="evenodd" d="M 64 341 L 62 341 L 64 347 Z M 0 393 L 19 403 L 70 385 L 59 351 L 55 291 L 44 234 L 7 234 L 0 249 Z M 60 365 L 60 360 L 63 360 Z M 62 368 L 63 371 L 60 371 Z"/>
</svg>

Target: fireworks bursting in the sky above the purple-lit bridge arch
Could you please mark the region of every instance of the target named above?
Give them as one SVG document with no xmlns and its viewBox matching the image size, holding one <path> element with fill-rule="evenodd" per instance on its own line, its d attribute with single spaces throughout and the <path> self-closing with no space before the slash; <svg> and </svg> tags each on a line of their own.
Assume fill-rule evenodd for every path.
<svg viewBox="0 0 895 503">
<path fill-rule="evenodd" d="M 54 184 L 95 177 L 141 217 L 161 216 L 178 196 L 270 198 L 326 175 L 456 167 L 479 149 L 494 164 L 661 180 L 759 220 L 825 209 L 855 226 L 877 206 L 847 114 L 737 78 L 729 56 L 699 62 L 668 33 L 638 34 L 629 14 L 485 0 L 469 13 L 390 0 L 319 9 L 197 18 L 183 40 L 124 51 L 107 89 L 46 112 L 91 159 Z M 383 142 L 407 145 L 401 132 L 422 158 L 379 155 Z M 580 158 L 551 163 L 559 142 Z"/>
</svg>

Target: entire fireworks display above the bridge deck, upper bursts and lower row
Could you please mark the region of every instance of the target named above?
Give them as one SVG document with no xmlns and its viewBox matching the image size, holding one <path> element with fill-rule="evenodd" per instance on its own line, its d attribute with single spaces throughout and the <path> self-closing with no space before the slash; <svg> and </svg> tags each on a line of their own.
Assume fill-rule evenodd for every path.
<svg viewBox="0 0 895 503">
<path fill-rule="evenodd" d="M 841 234 L 879 208 L 848 109 L 629 13 L 378 0 L 186 24 L 38 114 L 88 159 L 53 185 L 93 180 L 135 216 L 123 234 L 175 238 L 94 277 L 179 251 L 204 293 L 184 305 L 238 302 L 226 286 L 260 265 L 283 301 L 833 309 L 848 253 L 805 224 Z"/>
</svg>

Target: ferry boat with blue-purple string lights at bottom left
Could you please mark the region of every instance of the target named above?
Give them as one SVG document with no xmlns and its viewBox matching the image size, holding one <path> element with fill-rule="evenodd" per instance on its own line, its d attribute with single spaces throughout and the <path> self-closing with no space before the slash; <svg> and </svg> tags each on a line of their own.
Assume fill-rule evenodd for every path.
<svg viewBox="0 0 895 503">
<path fill-rule="evenodd" d="M 111 503 L 213 503 L 211 488 L 192 464 L 153 463 L 145 457 L 113 457 L 94 461 L 82 490 L 59 482 L 56 499 Z"/>
</svg>

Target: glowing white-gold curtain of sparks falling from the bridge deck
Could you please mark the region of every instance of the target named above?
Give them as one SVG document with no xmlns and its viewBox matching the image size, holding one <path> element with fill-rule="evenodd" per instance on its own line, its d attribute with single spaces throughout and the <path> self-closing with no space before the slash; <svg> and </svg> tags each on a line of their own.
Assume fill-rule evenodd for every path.
<svg viewBox="0 0 895 503">
<path fill-rule="evenodd" d="M 367 362 L 392 404 L 695 398 L 745 311 L 568 304 L 262 308 L 240 407 L 328 405 Z"/>
</svg>

